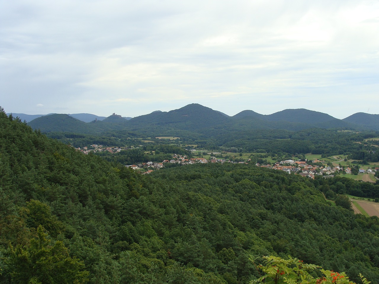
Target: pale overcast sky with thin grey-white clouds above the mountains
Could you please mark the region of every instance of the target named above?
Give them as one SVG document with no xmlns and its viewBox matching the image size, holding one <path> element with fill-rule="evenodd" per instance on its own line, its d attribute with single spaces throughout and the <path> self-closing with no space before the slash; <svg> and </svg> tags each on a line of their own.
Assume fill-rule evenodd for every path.
<svg viewBox="0 0 379 284">
<path fill-rule="evenodd" d="M 0 2 L 0 106 L 379 114 L 379 1 Z"/>
</svg>

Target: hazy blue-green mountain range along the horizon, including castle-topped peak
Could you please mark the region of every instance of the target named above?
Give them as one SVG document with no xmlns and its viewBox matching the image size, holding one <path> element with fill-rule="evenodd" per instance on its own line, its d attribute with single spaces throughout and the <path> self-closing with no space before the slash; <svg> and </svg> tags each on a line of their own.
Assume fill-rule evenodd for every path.
<svg viewBox="0 0 379 284">
<path fill-rule="evenodd" d="M 25 114 L 13 114 L 13 116 L 18 116 L 27 122 L 28 119 L 33 118 L 33 115 Z M 225 133 L 225 131 L 251 131 L 252 129 L 297 131 L 308 128 L 379 131 L 379 115 L 359 112 L 341 120 L 329 114 L 308 109 L 285 109 L 270 115 L 245 110 L 229 116 L 199 104 L 190 104 L 169 112 L 154 111 L 134 118 L 122 118 L 115 114 L 109 117 L 99 117 L 93 114 L 41 115 L 28 122 L 28 125 L 44 132 L 80 133 L 127 130 L 155 134 L 174 134 L 178 131 L 215 134 Z"/>
</svg>

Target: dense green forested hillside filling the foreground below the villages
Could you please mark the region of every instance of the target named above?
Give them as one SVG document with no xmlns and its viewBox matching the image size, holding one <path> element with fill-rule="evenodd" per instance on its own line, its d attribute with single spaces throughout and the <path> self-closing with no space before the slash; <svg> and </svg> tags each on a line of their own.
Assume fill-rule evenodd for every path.
<svg viewBox="0 0 379 284">
<path fill-rule="evenodd" d="M 0 167 L 1 283 L 248 283 L 249 255 L 269 254 L 379 282 L 378 218 L 321 193 L 358 182 L 243 164 L 138 175 L 4 111 Z"/>
</svg>

